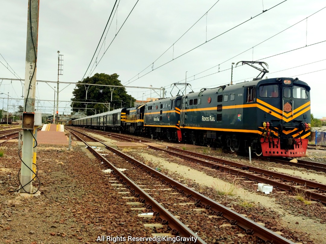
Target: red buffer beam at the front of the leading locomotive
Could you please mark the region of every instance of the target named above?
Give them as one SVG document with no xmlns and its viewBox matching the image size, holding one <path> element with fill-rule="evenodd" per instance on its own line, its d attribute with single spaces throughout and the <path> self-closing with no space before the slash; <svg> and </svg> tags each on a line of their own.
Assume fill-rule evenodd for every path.
<svg viewBox="0 0 326 244">
<path fill-rule="evenodd" d="M 263 138 L 261 138 L 262 140 Z M 287 139 L 284 143 L 289 146 L 281 149 L 280 139 L 270 138 L 268 142 L 261 141 L 261 150 L 265 157 L 304 157 L 308 146 L 308 139 Z"/>
</svg>

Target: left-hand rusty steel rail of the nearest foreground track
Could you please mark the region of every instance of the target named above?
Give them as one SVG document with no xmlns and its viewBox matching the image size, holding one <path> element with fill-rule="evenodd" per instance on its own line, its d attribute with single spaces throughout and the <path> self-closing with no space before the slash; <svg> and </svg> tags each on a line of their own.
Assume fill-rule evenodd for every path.
<svg viewBox="0 0 326 244">
<path fill-rule="evenodd" d="M 67 130 L 69 130 L 70 133 L 72 133 L 76 138 L 78 138 L 83 143 L 85 143 L 85 145 L 88 146 L 88 149 L 93 154 L 95 154 L 96 157 L 103 160 L 103 162 L 105 162 L 111 169 L 113 169 L 114 174 L 117 175 L 117 178 L 119 179 L 119 181 L 123 182 L 123 184 L 126 184 L 126 188 L 131 189 L 130 193 L 134 194 L 135 197 L 139 198 L 141 203 L 146 203 L 147 208 L 153 210 L 153 212 L 154 212 L 153 215 L 156 215 L 160 219 L 162 219 L 162 224 L 169 225 L 169 227 L 172 230 L 172 232 L 171 232 L 172 235 L 180 235 L 181 237 L 198 237 L 192 230 L 190 230 L 188 227 L 186 227 L 184 223 L 182 223 L 180 220 L 178 220 L 176 217 L 174 217 L 174 215 L 172 213 L 170 213 L 166 208 L 164 208 L 161 204 L 159 204 L 154 198 L 152 198 L 149 194 L 147 194 L 143 189 L 141 189 L 131 179 L 126 177 L 126 175 L 124 173 L 122 173 L 114 165 L 112 165 L 105 157 L 103 157 L 97 151 L 95 151 L 86 141 L 84 141 L 81 137 L 77 136 L 75 133 L 72 132 L 75 130 L 73 130 L 71 128 L 69 128 Z M 87 136 L 88 138 L 92 138 L 92 139 L 96 140 L 95 138 L 88 136 L 87 134 L 84 134 L 79 131 L 77 131 L 77 132 Z M 107 146 L 108 148 L 110 148 L 110 150 L 113 149 L 106 144 L 104 144 L 104 145 Z M 115 150 L 112 150 L 112 151 L 115 151 Z M 123 158 L 125 158 L 127 160 L 132 160 L 132 158 L 130 158 L 128 155 L 126 155 L 120 151 L 116 151 L 116 154 L 122 156 Z M 142 164 L 141 162 L 139 162 L 139 163 Z M 196 243 L 206 244 L 206 242 L 204 242 L 200 237 L 198 237 Z"/>
</svg>

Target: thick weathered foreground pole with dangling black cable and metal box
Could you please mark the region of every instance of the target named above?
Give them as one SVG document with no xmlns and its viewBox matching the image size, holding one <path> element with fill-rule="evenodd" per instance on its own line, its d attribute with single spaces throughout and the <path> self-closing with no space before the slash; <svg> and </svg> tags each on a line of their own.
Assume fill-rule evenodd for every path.
<svg viewBox="0 0 326 244">
<path fill-rule="evenodd" d="M 36 91 L 36 63 L 37 63 L 37 39 L 38 39 L 38 12 L 39 0 L 29 0 L 27 14 L 27 41 L 26 41 L 26 65 L 25 65 L 25 89 L 24 89 L 24 113 L 22 123 L 23 145 L 21 165 L 21 193 L 33 194 L 32 185 L 33 168 L 33 129 L 35 113 Z"/>
</svg>

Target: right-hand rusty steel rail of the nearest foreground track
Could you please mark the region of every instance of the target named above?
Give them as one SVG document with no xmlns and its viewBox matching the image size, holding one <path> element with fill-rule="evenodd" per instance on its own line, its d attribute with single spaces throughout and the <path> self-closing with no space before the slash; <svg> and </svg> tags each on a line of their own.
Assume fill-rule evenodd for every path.
<svg viewBox="0 0 326 244">
<path fill-rule="evenodd" d="M 77 131 L 77 132 L 81 133 L 87 137 L 91 137 L 82 132 L 79 132 L 79 131 Z M 92 139 L 95 139 L 95 138 L 92 137 Z M 99 140 L 97 140 L 97 141 L 99 141 Z M 101 141 L 99 141 L 99 142 L 101 142 Z M 104 142 L 101 142 L 101 143 L 103 145 L 105 145 L 108 149 L 113 151 L 114 153 L 123 156 L 125 159 L 127 159 L 127 160 L 133 162 L 134 164 L 138 165 L 139 167 L 147 170 L 148 173 L 151 173 L 153 176 L 156 176 L 156 178 L 161 179 L 162 183 L 165 183 L 166 185 L 170 185 L 171 188 L 177 189 L 180 193 L 186 194 L 187 197 L 193 198 L 196 201 L 196 205 L 203 206 L 206 209 L 211 209 L 214 212 L 216 212 L 216 214 L 218 216 L 222 216 L 222 217 L 226 218 L 227 220 L 229 220 L 232 225 L 238 225 L 239 227 L 243 228 L 247 234 L 253 234 L 253 235 L 259 237 L 260 239 L 262 239 L 263 241 L 265 241 L 266 243 L 279 243 L 279 244 L 292 243 L 293 244 L 292 241 L 274 233 L 273 231 L 257 224 L 256 222 L 254 222 L 248 218 L 245 218 L 244 216 L 231 210 L 230 208 L 227 208 L 227 207 L 215 202 L 214 200 L 194 191 L 193 189 L 183 185 L 182 183 L 175 181 L 174 179 L 160 173 L 159 171 L 141 163 L 140 161 L 129 157 L 128 155 L 122 153 L 121 151 L 119 151 L 117 149 L 110 147 L 109 145 L 105 144 Z M 93 151 L 95 151 L 95 150 L 93 150 Z M 103 157 L 101 157 L 101 159 L 102 158 Z"/>
</svg>

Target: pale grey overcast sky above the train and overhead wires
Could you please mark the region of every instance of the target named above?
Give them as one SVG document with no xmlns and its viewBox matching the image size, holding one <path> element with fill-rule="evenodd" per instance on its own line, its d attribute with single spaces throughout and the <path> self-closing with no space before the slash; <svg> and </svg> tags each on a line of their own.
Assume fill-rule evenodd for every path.
<svg viewBox="0 0 326 244">
<path fill-rule="evenodd" d="M 315 117 L 325 117 L 326 70 L 322 69 L 326 69 L 326 60 L 324 60 L 326 42 L 308 45 L 326 40 L 326 33 L 323 30 L 326 8 L 314 14 L 326 7 L 326 2 L 288 0 L 262 13 L 263 10 L 281 3 L 282 0 L 220 0 L 217 3 L 216 1 L 140 0 L 136 4 L 137 0 L 122 0 L 113 17 L 105 43 L 98 54 L 97 66 L 94 66 L 95 69 L 93 67 L 91 71 L 88 70 L 86 77 L 95 73 L 117 73 L 122 84 L 166 87 L 166 95 L 171 96 L 170 85 L 185 82 L 185 75 L 187 82 L 197 92 L 203 87 L 230 83 L 231 70 L 223 70 L 231 68 L 232 62 L 261 59 L 269 65 L 270 73 L 266 75 L 268 78 L 298 77 L 308 83 L 311 87 L 311 112 Z M 60 50 L 60 54 L 64 55 L 64 66 L 63 75 L 59 80 L 65 82 L 81 80 L 96 50 L 114 2 L 113 0 L 41 0 L 36 79 L 57 80 L 57 51 Z M 135 8 L 126 20 L 135 4 Z M 0 61 L 4 64 L 0 63 L 0 82 L 1 78 L 16 79 L 11 72 L 24 79 L 28 0 L 0 0 L 0 6 L 0 53 L 2 55 Z M 207 15 L 202 17 L 207 11 Z M 262 14 L 249 20 L 259 13 Z M 307 18 L 310 15 L 312 16 Z M 108 48 L 125 20 L 126 23 Z M 218 36 L 246 20 L 249 21 Z M 301 20 L 303 21 L 289 28 Z M 195 25 L 182 36 L 193 24 Z M 274 36 L 287 28 L 289 29 Z M 215 36 L 218 37 L 211 40 Z M 274 37 L 259 44 L 272 36 Z M 175 44 L 171 47 L 173 43 Z M 257 44 L 259 45 L 256 46 Z M 201 46 L 188 52 L 199 45 Z M 308 47 L 305 47 L 306 45 Z M 304 48 L 267 58 L 301 47 Z M 107 51 L 102 57 L 104 50 Z M 165 54 L 157 59 L 164 52 Z M 177 58 L 184 53 L 186 54 Z M 238 54 L 240 55 L 232 58 Z M 169 61 L 171 62 L 164 65 Z M 153 62 L 154 70 L 150 72 Z M 7 69 L 7 64 L 12 69 L 9 66 Z M 220 72 L 216 73 L 219 64 Z M 159 67 L 160 65 L 163 66 Z M 299 65 L 304 66 L 297 67 Z M 212 68 L 214 66 L 216 67 Z M 148 68 L 145 69 L 146 67 Z M 240 65 L 233 68 L 233 81 L 237 83 L 251 80 L 258 74 L 259 71 L 248 65 Z M 142 75 L 144 76 L 141 77 Z M 136 79 L 138 76 L 141 78 Z M 51 87 L 56 84 L 48 84 L 38 82 L 37 99 L 53 100 L 54 91 Z M 66 86 L 60 84 L 60 90 Z M 61 91 L 59 100 L 69 101 L 74 87 L 69 85 Z M 126 88 L 126 90 L 139 100 L 142 96 L 145 100 L 151 93 L 149 89 Z M 190 88 L 187 88 L 187 91 L 189 92 Z M 7 109 L 8 92 L 9 105 L 23 105 L 23 101 L 18 100 L 22 98 L 21 83 L 3 80 L 0 85 L 0 93 L 4 93 L 0 94 L 1 108 L 2 102 Z M 157 92 L 159 94 L 159 91 Z M 176 92 L 174 88 L 172 95 Z M 159 96 L 152 92 L 152 97 Z M 53 113 L 53 101 L 40 101 L 39 107 L 41 106 L 44 112 Z M 126 101 L 123 106 L 128 106 L 128 102 Z M 70 112 L 69 102 L 60 102 L 59 107 L 60 114 Z M 13 111 L 13 107 L 9 108 L 9 111 Z"/>
</svg>

